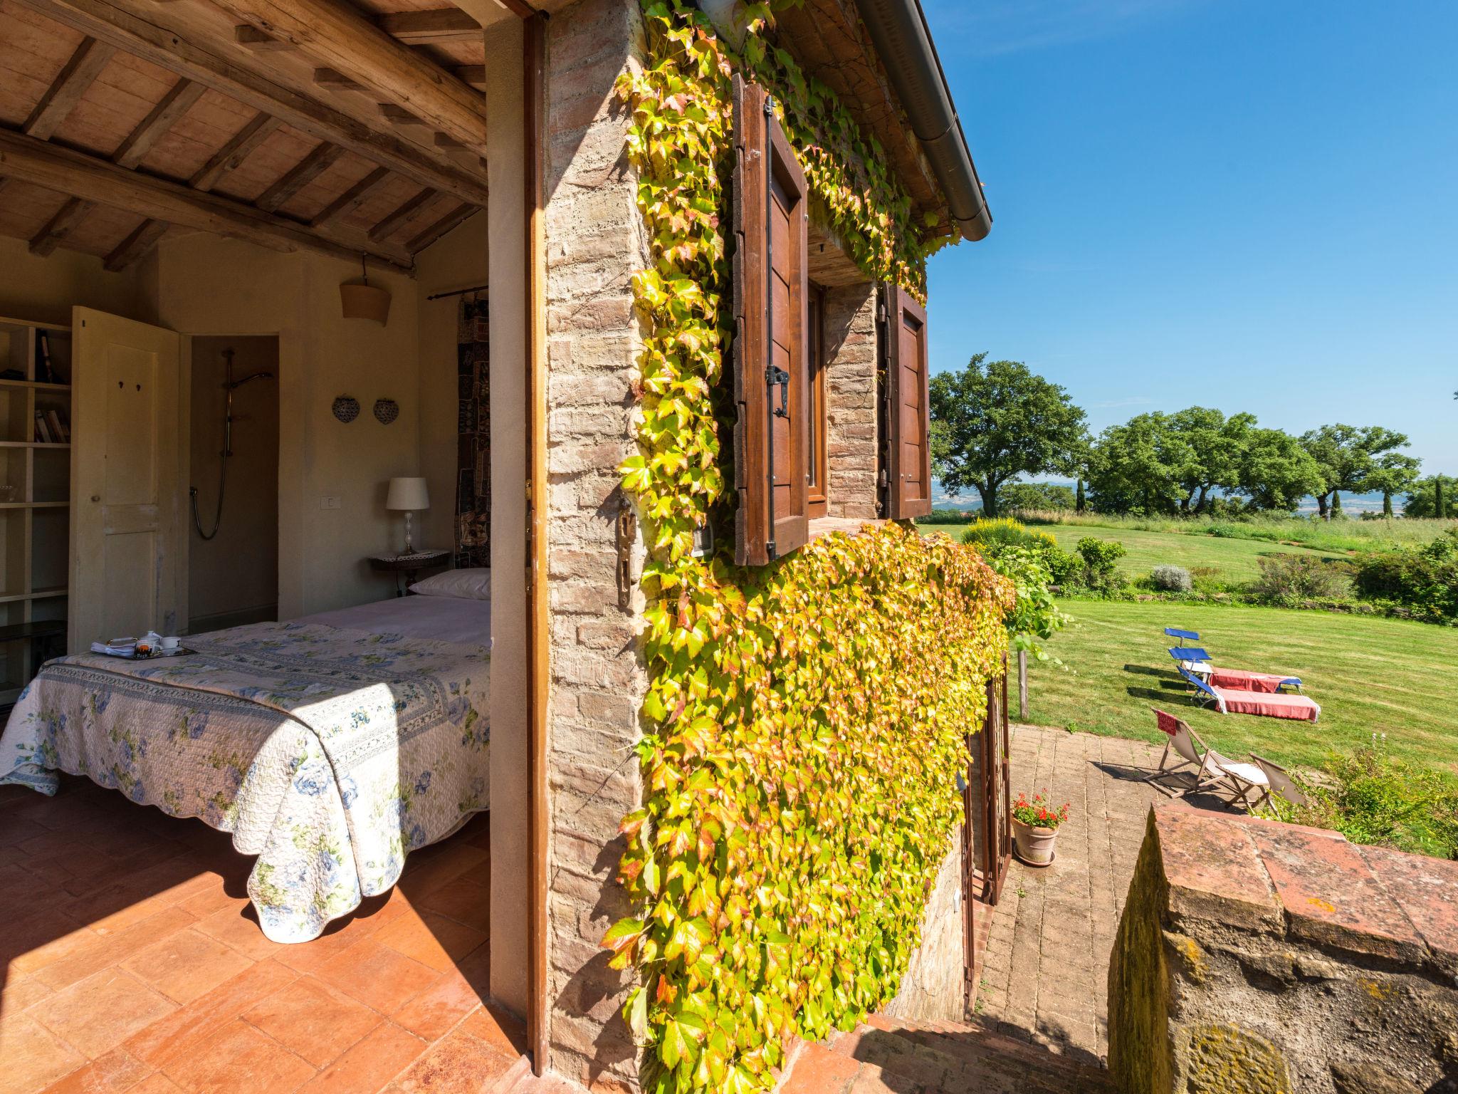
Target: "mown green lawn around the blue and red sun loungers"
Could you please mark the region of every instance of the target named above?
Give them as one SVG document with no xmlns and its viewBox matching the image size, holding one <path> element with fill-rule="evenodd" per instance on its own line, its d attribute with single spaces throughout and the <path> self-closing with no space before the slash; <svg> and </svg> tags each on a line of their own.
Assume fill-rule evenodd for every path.
<svg viewBox="0 0 1458 1094">
<path fill-rule="evenodd" d="M 1231 757 L 1254 750 L 1277 763 L 1318 766 L 1331 750 L 1385 732 L 1392 754 L 1458 775 L 1458 629 L 1282 608 L 1059 605 L 1076 621 L 1048 643 L 1067 668 L 1029 668 L 1028 713 L 1037 725 L 1162 741 L 1149 712 L 1162 706 Z M 1321 721 L 1194 707 L 1165 652 L 1175 645 L 1162 633 L 1166 626 L 1200 632 L 1219 667 L 1299 675 L 1321 703 Z"/>
</svg>

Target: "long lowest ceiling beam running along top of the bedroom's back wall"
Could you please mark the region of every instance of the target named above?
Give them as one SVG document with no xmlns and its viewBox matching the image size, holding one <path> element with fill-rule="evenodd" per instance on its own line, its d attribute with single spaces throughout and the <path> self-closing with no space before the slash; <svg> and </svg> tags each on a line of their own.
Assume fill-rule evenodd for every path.
<svg viewBox="0 0 1458 1094">
<path fill-rule="evenodd" d="M 372 241 L 367 247 L 311 229 L 219 194 L 118 168 L 83 152 L 48 144 L 22 133 L 0 130 L 0 175 L 17 178 L 82 201 L 125 209 L 182 228 L 246 239 L 278 251 L 309 249 L 357 261 L 362 251 L 402 270 L 411 265 L 404 248 Z"/>
</svg>

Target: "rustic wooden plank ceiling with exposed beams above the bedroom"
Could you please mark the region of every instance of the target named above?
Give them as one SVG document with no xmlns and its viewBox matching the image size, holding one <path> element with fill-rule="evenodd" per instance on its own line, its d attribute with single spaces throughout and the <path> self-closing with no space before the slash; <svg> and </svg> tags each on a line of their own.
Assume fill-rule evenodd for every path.
<svg viewBox="0 0 1458 1094">
<path fill-rule="evenodd" d="M 0 235 L 109 270 L 182 229 L 410 268 L 486 204 L 483 86 L 445 0 L 0 0 Z"/>
</svg>

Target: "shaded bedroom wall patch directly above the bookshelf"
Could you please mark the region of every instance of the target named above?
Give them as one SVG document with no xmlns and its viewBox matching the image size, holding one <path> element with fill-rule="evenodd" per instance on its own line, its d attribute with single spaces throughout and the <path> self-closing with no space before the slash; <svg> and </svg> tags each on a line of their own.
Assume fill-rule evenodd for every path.
<svg viewBox="0 0 1458 1094">
<path fill-rule="evenodd" d="M 38 258 L 23 239 L 0 238 L 0 315 L 70 324 L 77 303 L 147 318 L 141 279 L 106 273 L 95 255 L 61 249 Z"/>
</svg>

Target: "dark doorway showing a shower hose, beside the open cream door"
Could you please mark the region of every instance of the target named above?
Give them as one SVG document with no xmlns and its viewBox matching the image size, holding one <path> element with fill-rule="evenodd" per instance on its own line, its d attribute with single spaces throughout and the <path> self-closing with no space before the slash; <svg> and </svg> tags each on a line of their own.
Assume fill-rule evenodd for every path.
<svg viewBox="0 0 1458 1094">
<path fill-rule="evenodd" d="M 278 338 L 195 335 L 188 633 L 278 617 Z"/>
</svg>

